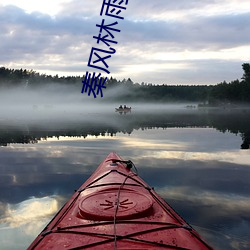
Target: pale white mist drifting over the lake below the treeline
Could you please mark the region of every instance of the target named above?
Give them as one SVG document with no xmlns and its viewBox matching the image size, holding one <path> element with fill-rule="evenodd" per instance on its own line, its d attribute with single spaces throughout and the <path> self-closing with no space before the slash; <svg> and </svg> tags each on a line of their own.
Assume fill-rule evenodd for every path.
<svg viewBox="0 0 250 250">
<path fill-rule="evenodd" d="M 114 115 L 116 107 L 127 105 L 132 107 L 133 112 L 166 112 L 185 110 L 187 104 L 154 104 L 154 103 L 132 103 L 129 100 L 124 103 L 110 101 L 109 98 L 128 93 L 126 88 L 117 87 L 104 90 L 104 97 L 88 96 L 81 94 L 81 89 L 72 86 L 52 84 L 45 87 L 11 88 L 0 91 L 0 121 L 18 122 L 56 122 L 66 121 L 103 121 L 109 122 L 110 116 Z M 188 110 L 186 110 L 188 112 Z M 91 115 L 98 114 L 98 117 Z"/>
</svg>

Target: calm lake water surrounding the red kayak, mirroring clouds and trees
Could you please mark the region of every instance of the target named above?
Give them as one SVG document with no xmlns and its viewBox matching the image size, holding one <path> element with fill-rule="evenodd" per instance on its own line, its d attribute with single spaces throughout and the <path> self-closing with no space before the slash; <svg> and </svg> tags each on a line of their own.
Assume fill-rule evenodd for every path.
<svg viewBox="0 0 250 250">
<path fill-rule="evenodd" d="M 0 118 L 0 248 L 27 248 L 115 151 L 215 249 L 250 249 L 250 111 L 113 110 Z"/>
</svg>

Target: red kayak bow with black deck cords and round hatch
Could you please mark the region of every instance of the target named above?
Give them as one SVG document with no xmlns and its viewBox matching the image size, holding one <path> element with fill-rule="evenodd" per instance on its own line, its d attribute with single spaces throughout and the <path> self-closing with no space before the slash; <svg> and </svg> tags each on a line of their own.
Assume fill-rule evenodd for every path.
<svg viewBox="0 0 250 250">
<path fill-rule="evenodd" d="M 28 249 L 212 249 L 133 168 L 110 153 Z"/>
</svg>

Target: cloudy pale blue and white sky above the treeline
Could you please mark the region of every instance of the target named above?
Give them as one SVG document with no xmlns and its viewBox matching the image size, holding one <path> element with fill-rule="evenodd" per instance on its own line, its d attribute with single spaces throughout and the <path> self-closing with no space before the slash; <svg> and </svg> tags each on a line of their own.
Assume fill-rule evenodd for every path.
<svg viewBox="0 0 250 250">
<path fill-rule="evenodd" d="M 0 0 L 0 67 L 104 73 L 87 66 L 92 47 L 108 49 L 93 38 L 102 19 L 121 30 L 106 60 L 117 79 L 216 84 L 240 79 L 250 61 L 249 0 L 129 0 L 124 20 L 100 16 L 102 3 Z"/>
</svg>

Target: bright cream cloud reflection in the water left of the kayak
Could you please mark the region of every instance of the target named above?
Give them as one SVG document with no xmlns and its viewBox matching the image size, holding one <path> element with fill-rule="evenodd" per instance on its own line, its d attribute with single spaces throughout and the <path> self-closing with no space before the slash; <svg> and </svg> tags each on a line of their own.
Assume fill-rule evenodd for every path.
<svg viewBox="0 0 250 250">
<path fill-rule="evenodd" d="M 59 210 L 62 202 L 59 196 L 47 196 L 15 205 L 4 204 L 4 215 L 0 217 L 0 248 L 26 249 Z"/>
</svg>

